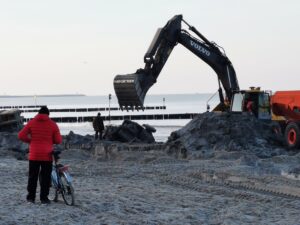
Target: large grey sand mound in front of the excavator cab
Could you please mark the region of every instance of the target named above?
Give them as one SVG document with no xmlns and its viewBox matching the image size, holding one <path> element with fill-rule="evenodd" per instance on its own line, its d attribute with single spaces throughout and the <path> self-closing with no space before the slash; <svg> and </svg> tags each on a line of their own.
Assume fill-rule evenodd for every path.
<svg viewBox="0 0 300 225">
<path fill-rule="evenodd" d="M 255 154 L 268 158 L 284 154 L 272 123 L 249 114 L 203 113 L 168 139 L 169 151 L 194 152 L 199 158 L 211 158 L 218 151 Z M 196 153 L 198 152 L 198 153 Z"/>
</svg>

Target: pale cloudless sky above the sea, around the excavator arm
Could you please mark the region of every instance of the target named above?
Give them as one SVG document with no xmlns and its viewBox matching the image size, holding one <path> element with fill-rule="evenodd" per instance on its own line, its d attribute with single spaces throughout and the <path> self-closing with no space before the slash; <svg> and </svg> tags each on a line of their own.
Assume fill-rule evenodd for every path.
<svg viewBox="0 0 300 225">
<path fill-rule="evenodd" d="M 176 14 L 225 49 L 242 89 L 300 89 L 299 0 L 0 0 L 0 95 L 114 94 Z M 179 44 L 148 93 L 217 88 Z"/>
</svg>

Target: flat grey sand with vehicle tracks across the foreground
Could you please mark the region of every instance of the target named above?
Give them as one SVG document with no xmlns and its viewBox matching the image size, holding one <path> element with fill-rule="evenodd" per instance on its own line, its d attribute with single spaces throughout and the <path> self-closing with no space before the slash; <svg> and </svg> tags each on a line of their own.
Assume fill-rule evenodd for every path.
<svg viewBox="0 0 300 225">
<path fill-rule="evenodd" d="M 28 162 L 1 157 L 0 224 L 300 224 L 300 180 L 284 173 L 300 154 L 188 160 L 163 149 L 68 149 L 61 161 L 70 165 L 75 206 L 61 197 L 27 203 Z"/>
</svg>

